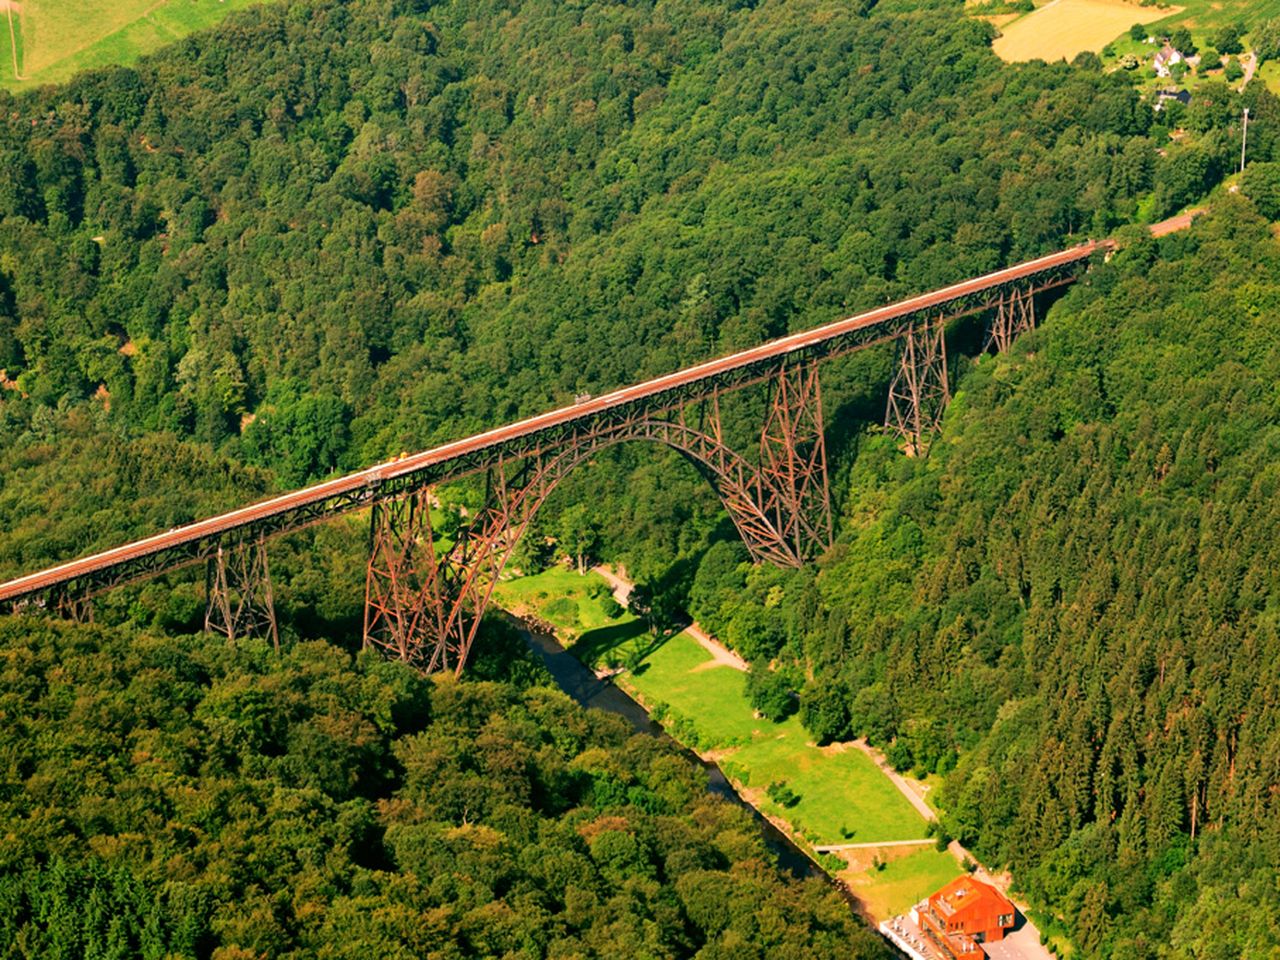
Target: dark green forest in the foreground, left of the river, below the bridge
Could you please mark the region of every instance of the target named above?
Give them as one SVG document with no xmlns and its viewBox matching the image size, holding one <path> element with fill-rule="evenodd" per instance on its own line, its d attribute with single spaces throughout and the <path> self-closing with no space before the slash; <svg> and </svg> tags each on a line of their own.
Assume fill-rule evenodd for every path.
<svg viewBox="0 0 1280 960">
<path fill-rule="evenodd" d="M 0 625 L 0 956 L 887 957 L 669 741 L 474 666 Z"/>
</svg>

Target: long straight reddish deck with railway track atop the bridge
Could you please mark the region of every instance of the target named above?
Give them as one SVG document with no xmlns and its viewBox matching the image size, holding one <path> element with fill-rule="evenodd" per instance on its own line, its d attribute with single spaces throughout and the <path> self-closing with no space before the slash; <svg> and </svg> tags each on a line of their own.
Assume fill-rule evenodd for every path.
<svg viewBox="0 0 1280 960">
<path fill-rule="evenodd" d="M 449 461 L 474 456 L 477 452 L 500 447 L 521 438 L 529 438 L 549 429 L 572 425 L 579 421 L 590 421 L 611 410 L 625 407 L 627 404 L 701 381 L 717 380 L 727 374 L 732 374 L 733 371 L 754 369 L 762 364 L 778 361 L 792 355 L 803 356 L 806 351 L 812 351 L 819 344 L 827 342 L 840 340 L 859 332 L 876 330 L 882 326 L 888 328 L 895 320 L 901 320 L 902 317 L 909 317 L 936 307 L 946 307 L 947 305 L 952 305 L 957 301 L 972 298 L 974 294 L 980 294 L 1019 280 L 1028 280 L 1046 273 L 1052 273 L 1055 270 L 1061 270 L 1062 268 L 1080 264 L 1082 261 L 1088 260 L 1098 250 L 1110 248 L 1110 246 L 1111 244 L 1105 241 L 1083 243 L 1080 246 L 1071 247 L 1070 250 L 1051 253 L 1048 256 L 1030 260 L 1004 270 L 997 270 L 984 276 L 943 287 L 933 291 L 932 293 L 924 293 L 918 297 L 899 301 L 897 303 L 891 303 L 864 314 L 858 314 L 856 316 L 851 316 L 845 320 L 824 324 L 823 326 L 818 326 L 812 330 L 782 337 L 760 344 L 759 347 L 753 347 L 718 360 L 699 364 L 634 387 L 626 387 L 602 397 L 559 407 L 558 410 L 539 413 L 538 416 L 529 417 L 527 420 L 499 426 L 462 440 L 454 440 L 442 447 L 435 447 L 434 449 L 404 457 L 403 460 L 379 463 L 378 466 L 372 466 L 355 474 L 348 474 L 335 480 L 328 480 L 314 486 L 307 486 L 302 490 L 296 490 L 282 497 L 274 497 L 248 507 L 230 511 L 229 513 L 223 513 L 216 517 L 175 527 L 164 534 L 157 534 L 143 540 L 136 540 L 122 547 L 115 547 L 91 557 L 83 557 L 69 563 L 50 567 L 49 570 L 31 573 L 17 580 L 10 580 L 6 584 L 0 584 L 0 603 L 12 603 L 20 598 L 40 594 L 45 590 L 77 581 L 82 577 L 99 573 L 119 564 L 131 563 L 150 554 L 174 550 L 175 548 L 182 548 L 184 545 L 192 547 L 192 550 L 187 557 L 187 562 L 192 562 L 198 559 L 198 556 L 195 552 L 196 544 L 210 541 L 211 539 L 216 539 L 228 531 L 259 525 L 273 517 L 288 515 L 298 511 L 300 508 L 321 504 L 335 498 L 348 498 L 356 503 L 367 503 L 375 498 L 372 493 L 388 484 L 388 481 L 408 477 L 413 474 L 421 474 L 428 468 L 448 463 Z M 364 495 L 366 493 L 369 495 Z"/>
</svg>

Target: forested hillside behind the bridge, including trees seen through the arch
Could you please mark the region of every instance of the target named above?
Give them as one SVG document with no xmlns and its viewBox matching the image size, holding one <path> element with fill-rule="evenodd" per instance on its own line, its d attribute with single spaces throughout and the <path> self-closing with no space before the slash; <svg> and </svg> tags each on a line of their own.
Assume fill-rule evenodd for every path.
<svg viewBox="0 0 1280 960">
<path fill-rule="evenodd" d="M 297 485 L 1167 212 L 1230 163 L 1225 88 L 1161 157 L 1123 82 L 988 40 L 890 3 L 298 0 L 0 95 L 3 468 L 32 494 L 0 571 L 229 499 L 183 476 L 81 522 L 69 435 Z M 1262 160 L 1275 101 L 1245 99 Z M 883 389 L 865 364 L 832 408 Z M 714 500 L 617 456 L 584 483 L 660 576 Z"/>
</svg>

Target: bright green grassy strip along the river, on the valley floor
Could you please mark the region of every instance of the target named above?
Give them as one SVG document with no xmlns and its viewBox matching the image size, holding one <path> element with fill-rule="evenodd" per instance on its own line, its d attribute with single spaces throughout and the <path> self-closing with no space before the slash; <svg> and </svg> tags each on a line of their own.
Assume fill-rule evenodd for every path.
<svg viewBox="0 0 1280 960">
<path fill-rule="evenodd" d="M 873 754 L 852 744 L 819 748 L 795 717 L 756 717 L 741 658 L 705 634 L 650 636 L 618 612 L 627 591 L 613 571 L 584 577 L 558 568 L 500 585 L 499 602 L 547 623 L 598 673 L 623 666 L 612 682 L 681 745 L 718 764 L 746 803 L 854 895 L 868 919 L 900 913 L 960 876 L 959 860 L 934 849 L 927 819 Z M 791 796 L 771 791 L 773 785 Z"/>
</svg>

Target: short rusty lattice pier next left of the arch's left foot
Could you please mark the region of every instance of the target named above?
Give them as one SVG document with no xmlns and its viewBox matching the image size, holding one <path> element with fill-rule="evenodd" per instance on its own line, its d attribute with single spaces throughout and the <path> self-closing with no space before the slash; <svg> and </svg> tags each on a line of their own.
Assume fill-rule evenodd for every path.
<svg viewBox="0 0 1280 960">
<path fill-rule="evenodd" d="M 219 544 L 218 552 L 209 558 L 205 590 L 205 632 L 223 634 L 228 640 L 261 636 L 280 649 L 271 571 L 262 538 L 230 548 Z"/>
</svg>

